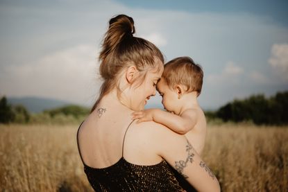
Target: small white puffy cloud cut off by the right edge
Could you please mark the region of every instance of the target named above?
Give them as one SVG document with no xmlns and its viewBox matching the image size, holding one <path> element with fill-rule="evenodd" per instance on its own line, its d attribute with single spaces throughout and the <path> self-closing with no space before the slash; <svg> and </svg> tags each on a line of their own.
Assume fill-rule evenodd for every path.
<svg viewBox="0 0 288 192">
<path fill-rule="evenodd" d="M 288 44 L 273 44 L 269 64 L 282 80 L 288 82 Z"/>
</svg>

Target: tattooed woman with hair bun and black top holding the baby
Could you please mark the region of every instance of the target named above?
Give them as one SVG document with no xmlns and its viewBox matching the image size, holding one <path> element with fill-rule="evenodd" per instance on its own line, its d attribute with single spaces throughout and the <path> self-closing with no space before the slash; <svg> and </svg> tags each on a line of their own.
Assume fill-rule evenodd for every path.
<svg viewBox="0 0 288 192">
<path fill-rule="evenodd" d="M 133 37 L 131 17 L 118 15 L 109 24 L 99 56 L 100 95 L 77 134 L 93 189 L 184 191 L 170 164 L 198 191 L 219 191 L 217 178 L 185 136 L 152 121 L 131 120 L 155 95 L 164 59 L 154 44 Z"/>
</svg>

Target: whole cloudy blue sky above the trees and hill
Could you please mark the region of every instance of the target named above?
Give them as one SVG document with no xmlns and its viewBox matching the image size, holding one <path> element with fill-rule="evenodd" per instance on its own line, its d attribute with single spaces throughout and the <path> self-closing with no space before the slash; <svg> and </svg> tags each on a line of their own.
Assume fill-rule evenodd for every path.
<svg viewBox="0 0 288 192">
<path fill-rule="evenodd" d="M 113 15 L 167 61 L 201 64 L 204 109 L 288 90 L 288 1 L 0 1 L 0 95 L 93 103 L 101 39 Z M 155 96 L 149 106 L 160 105 Z"/>
</svg>

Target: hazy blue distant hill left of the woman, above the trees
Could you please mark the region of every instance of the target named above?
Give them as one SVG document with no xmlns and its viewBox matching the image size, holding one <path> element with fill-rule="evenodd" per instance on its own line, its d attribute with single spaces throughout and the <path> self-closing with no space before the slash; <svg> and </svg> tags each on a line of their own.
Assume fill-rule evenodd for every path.
<svg viewBox="0 0 288 192">
<path fill-rule="evenodd" d="M 67 101 L 61 101 L 51 98 L 39 98 L 39 97 L 8 97 L 8 103 L 11 105 L 24 105 L 26 109 L 31 113 L 38 113 L 44 110 L 53 109 L 56 107 L 62 107 L 64 105 L 73 105 L 75 103 L 69 103 Z"/>
</svg>

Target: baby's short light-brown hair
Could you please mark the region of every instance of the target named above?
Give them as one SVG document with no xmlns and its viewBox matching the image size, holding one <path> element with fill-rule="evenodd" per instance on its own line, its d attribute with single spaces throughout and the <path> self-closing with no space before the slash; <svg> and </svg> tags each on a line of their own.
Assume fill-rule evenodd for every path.
<svg viewBox="0 0 288 192">
<path fill-rule="evenodd" d="M 164 64 L 162 78 L 172 90 L 176 85 L 184 85 L 185 92 L 197 91 L 197 96 L 201 94 L 203 71 L 192 58 L 180 57 L 167 62 Z"/>
</svg>

